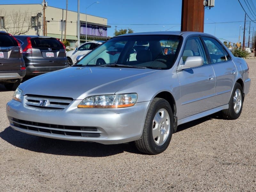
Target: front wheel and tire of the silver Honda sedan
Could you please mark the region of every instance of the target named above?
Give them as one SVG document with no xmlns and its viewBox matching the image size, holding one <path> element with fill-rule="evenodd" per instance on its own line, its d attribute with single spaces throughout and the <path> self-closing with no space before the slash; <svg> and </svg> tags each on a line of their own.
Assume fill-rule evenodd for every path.
<svg viewBox="0 0 256 192">
<path fill-rule="evenodd" d="M 158 122 L 156 121 L 157 116 L 160 117 Z M 155 98 L 149 106 L 142 136 L 139 140 L 134 141 L 135 146 L 142 153 L 152 155 L 162 153 L 169 146 L 173 127 L 173 113 L 170 104 L 164 99 Z M 155 136 L 153 136 L 153 132 Z"/>
</svg>

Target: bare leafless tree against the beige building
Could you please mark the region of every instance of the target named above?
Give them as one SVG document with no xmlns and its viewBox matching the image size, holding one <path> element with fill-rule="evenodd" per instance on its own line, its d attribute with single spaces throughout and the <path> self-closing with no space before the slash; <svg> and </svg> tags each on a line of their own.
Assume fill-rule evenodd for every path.
<svg viewBox="0 0 256 192">
<path fill-rule="evenodd" d="M 4 18 L 4 25 L 2 26 L 5 31 L 12 35 L 25 34 L 32 28 L 31 17 L 28 14 L 28 10 L 21 11 L 12 10 L 6 14 L 4 9 L 0 9 L 0 15 Z"/>
</svg>

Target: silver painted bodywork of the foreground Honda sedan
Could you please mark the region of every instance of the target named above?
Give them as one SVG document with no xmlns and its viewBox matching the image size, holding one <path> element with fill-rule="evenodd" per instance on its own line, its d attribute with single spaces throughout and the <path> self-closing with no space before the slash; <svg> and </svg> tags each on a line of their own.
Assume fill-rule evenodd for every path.
<svg viewBox="0 0 256 192">
<path fill-rule="evenodd" d="M 180 34 L 186 39 L 189 35 L 195 35 L 197 33 L 176 32 L 172 34 Z M 182 47 L 184 44 L 185 41 L 183 41 Z M 177 70 L 182 51 L 181 49 L 178 59 L 169 70 L 110 68 L 107 69 L 108 73 L 105 73 L 106 69 L 101 67 L 73 67 L 53 72 L 54 76 L 48 73 L 36 79 L 31 79 L 29 86 L 20 85 L 20 89 L 23 90 L 24 95 L 36 93 L 37 95 L 71 97 L 74 101 L 60 113 L 49 113 L 43 109 L 38 109 L 33 110 L 33 117 L 31 117 L 31 110 L 24 106 L 24 102 L 20 103 L 11 100 L 6 108 L 10 124 L 16 130 L 39 136 L 65 140 L 95 141 L 104 144 L 123 143 L 140 138 L 149 104 L 160 92 L 169 92 L 172 94 L 176 102 L 178 124 L 186 123 L 228 108 L 228 101 L 234 82 L 239 79 L 244 83 L 244 94 L 249 92 L 251 82 L 248 78 L 248 70 L 246 69 L 244 60 L 232 57 L 232 60 L 229 62 Z M 228 49 L 227 52 L 229 52 Z M 236 64 L 233 63 L 233 60 L 236 61 Z M 221 68 L 222 64 L 227 64 L 228 72 L 214 72 L 214 69 Z M 235 74 L 233 73 L 234 70 Z M 84 74 L 90 75 L 87 79 L 83 79 L 81 76 Z M 104 76 L 107 75 L 107 78 L 100 78 L 103 74 Z M 60 79 L 60 77 L 62 78 Z M 222 83 L 216 82 L 216 80 L 220 80 Z M 73 82 L 76 82 L 76 84 Z M 196 82 L 207 84 L 207 86 L 200 86 Z M 47 89 L 50 90 L 49 92 L 45 92 L 41 86 L 38 86 L 44 86 L 44 84 L 47 85 Z M 217 87 L 215 87 L 215 84 Z M 84 92 L 84 90 L 88 91 Z M 87 96 L 132 92 L 138 93 L 138 102 L 130 108 L 77 108 L 80 101 Z M 213 105 L 216 102 L 220 105 L 214 108 Z M 68 118 L 63 118 L 67 114 Z M 86 122 L 86 126 L 99 127 L 102 137 L 78 138 L 46 133 L 39 134 L 28 130 L 24 131 L 13 125 L 12 117 L 48 124 L 59 124 L 61 122 L 61 124 L 76 124 L 77 126 L 84 126 Z"/>
</svg>

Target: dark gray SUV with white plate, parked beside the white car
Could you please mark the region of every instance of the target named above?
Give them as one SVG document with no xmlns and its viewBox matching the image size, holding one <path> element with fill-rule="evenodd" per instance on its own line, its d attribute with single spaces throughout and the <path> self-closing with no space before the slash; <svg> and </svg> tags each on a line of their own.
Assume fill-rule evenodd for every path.
<svg viewBox="0 0 256 192">
<path fill-rule="evenodd" d="M 14 36 L 21 44 L 26 76 L 40 75 L 68 67 L 66 48 L 57 38 L 48 36 Z"/>
</svg>

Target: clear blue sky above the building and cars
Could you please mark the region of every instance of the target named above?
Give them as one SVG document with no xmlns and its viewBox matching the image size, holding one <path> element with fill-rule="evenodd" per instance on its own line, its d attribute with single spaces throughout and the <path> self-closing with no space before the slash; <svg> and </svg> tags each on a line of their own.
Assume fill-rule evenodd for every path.
<svg viewBox="0 0 256 192">
<path fill-rule="evenodd" d="M 41 4 L 43 0 L 0 0 L 0 4 Z M 66 0 L 46 0 L 48 6 L 66 9 Z M 80 0 L 80 12 L 108 19 L 108 36 L 112 36 L 115 28 L 131 28 L 134 32 L 180 30 L 182 0 Z M 10 3 L 11 2 L 11 3 Z M 253 29 L 256 30 L 256 2 L 255 0 L 240 0 L 251 22 L 252 41 Z M 254 12 L 250 12 L 245 2 L 251 3 Z M 254 3 L 253 3 L 254 2 Z M 203 3 L 203 0 L 202 0 Z M 68 0 L 68 10 L 77 12 L 77 0 Z M 253 15 L 254 14 L 254 15 Z M 238 41 L 241 25 L 241 38 L 243 41 L 245 12 L 238 0 L 215 0 L 215 7 L 205 9 L 204 32 L 216 35 L 221 41 Z M 80 18 L 80 20 L 83 20 Z M 249 38 L 249 21 L 246 20 L 246 44 Z M 115 27 L 117 26 L 117 27 Z"/>
</svg>

